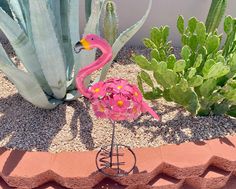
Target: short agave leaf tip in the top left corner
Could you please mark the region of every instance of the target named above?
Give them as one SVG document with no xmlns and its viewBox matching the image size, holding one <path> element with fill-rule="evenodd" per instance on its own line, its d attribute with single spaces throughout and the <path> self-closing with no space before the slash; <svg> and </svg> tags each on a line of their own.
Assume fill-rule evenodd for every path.
<svg viewBox="0 0 236 189">
<path fill-rule="evenodd" d="M 21 28 L 26 31 L 27 30 L 26 29 L 26 22 L 24 19 L 24 15 L 22 13 L 20 2 L 15 1 L 15 0 L 8 0 L 8 4 L 10 6 L 12 13 L 13 13 L 14 20 L 17 20 L 19 25 L 21 26 Z"/>
</svg>

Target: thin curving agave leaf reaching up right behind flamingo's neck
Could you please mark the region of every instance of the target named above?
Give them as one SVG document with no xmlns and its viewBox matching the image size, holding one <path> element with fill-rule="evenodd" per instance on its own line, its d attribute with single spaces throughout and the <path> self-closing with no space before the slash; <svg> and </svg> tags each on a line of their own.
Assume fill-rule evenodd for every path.
<svg viewBox="0 0 236 189">
<path fill-rule="evenodd" d="M 148 5 L 148 9 L 145 13 L 145 15 L 141 18 L 141 20 L 139 20 L 136 24 L 132 25 L 131 27 L 129 27 L 127 30 L 123 31 L 119 37 L 116 39 L 115 43 L 112 45 L 112 50 L 113 50 L 113 56 L 112 56 L 112 60 L 106 64 L 104 66 L 104 68 L 102 69 L 102 72 L 100 74 L 100 78 L 99 80 L 104 80 L 106 78 L 108 69 L 110 68 L 112 61 L 114 60 L 114 58 L 116 57 L 116 55 L 118 54 L 118 52 L 121 50 L 121 48 L 134 36 L 134 34 L 142 27 L 142 25 L 144 24 L 144 22 L 146 21 L 149 12 L 151 10 L 152 7 L 152 0 L 149 0 L 149 5 Z"/>
</svg>

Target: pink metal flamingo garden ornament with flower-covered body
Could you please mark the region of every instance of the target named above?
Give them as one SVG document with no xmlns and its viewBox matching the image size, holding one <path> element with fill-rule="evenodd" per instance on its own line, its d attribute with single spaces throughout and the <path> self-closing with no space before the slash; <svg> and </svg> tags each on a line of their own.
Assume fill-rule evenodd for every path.
<svg viewBox="0 0 236 189">
<path fill-rule="evenodd" d="M 112 78 L 104 82 L 95 83 L 89 88 L 84 85 L 84 80 L 88 75 L 102 68 L 112 58 L 112 48 L 109 43 L 95 34 L 86 35 L 82 40 L 76 43 L 74 50 L 76 53 L 79 53 L 82 49 L 91 50 L 94 48 L 100 49 L 102 55 L 90 65 L 79 70 L 76 76 L 76 86 L 78 91 L 91 101 L 92 108 L 98 118 L 108 118 L 111 120 L 113 125 L 112 142 L 110 151 L 105 150 L 105 154 L 110 161 L 107 162 L 105 160 L 106 157 L 103 157 L 100 159 L 100 162 L 104 163 L 105 168 L 117 166 L 118 175 L 121 175 L 119 174 L 119 165 L 122 163 L 113 163 L 112 158 L 114 156 L 115 121 L 131 121 L 136 119 L 142 112 L 149 112 L 158 121 L 160 117 L 143 101 L 142 94 L 138 87 L 128 83 L 128 81 L 124 79 Z M 118 150 L 116 156 L 121 156 Z M 98 164 L 97 167 L 99 168 Z M 102 172 L 104 173 L 104 171 Z"/>
</svg>

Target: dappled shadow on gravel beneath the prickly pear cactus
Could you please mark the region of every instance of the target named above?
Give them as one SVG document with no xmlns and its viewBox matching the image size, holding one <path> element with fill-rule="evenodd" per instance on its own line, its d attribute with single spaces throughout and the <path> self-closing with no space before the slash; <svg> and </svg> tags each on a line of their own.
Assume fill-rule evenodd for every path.
<svg viewBox="0 0 236 189">
<path fill-rule="evenodd" d="M 178 110 L 178 112 L 168 121 L 158 122 L 153 119 L 149 113 L 145 113 L 143 114 L 145 115 L 145 119 L 143 116 L 140 116 L 131 123 L 121 121 L 120 124 L 134 134 L 136 134 L 134 126 L 137 126 L 136 128 L 138 129 L 143 128 L 146 134 L 151 135 L 149 139 L 150 143 L 159 140 L 158 137 L 161 137 L 165 143 L 169 144 L 180 144 L 191 141 L 197 145 L 204 145 L 203 140 L 219 138 L 222 143 L 235 147 L 234 144 L 224 138 L 224 136 L 236 132 L 236 119 L 229 116 L 200 117 L 186 115 L 183 108 L 168 105 L 163 106 L 165 109 L 164 112 L 158 112 L 158 108 L 156 107 L 153 107 L 154 111 L 163 117 L 170 112 L 176 110 Z M 226 123 L 228 125 L 226 125 Z"/>
</svg>

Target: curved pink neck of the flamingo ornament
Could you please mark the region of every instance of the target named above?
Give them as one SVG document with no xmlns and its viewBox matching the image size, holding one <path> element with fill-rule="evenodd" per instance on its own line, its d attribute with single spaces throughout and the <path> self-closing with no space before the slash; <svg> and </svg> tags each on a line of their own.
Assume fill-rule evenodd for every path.
<svg viewBox="0 0 236 189">
<path fill-rule="evenodd" d="M 88 92 L 88 88 L 84 85 L 85 78 L 94 71 L 102 68 L 112 58 L 112 48 L 105 40 L 101 39 L 101 41 L 99 41 L 99 43 L 94 45 L 93 47 L 100 49 L 102 51 L 102 55 L 92 64 L 79 70 L 76 76 L 77 89 L 83 96 L 87 98 L 91 97 L 91 93 Z"/>
</svg>

